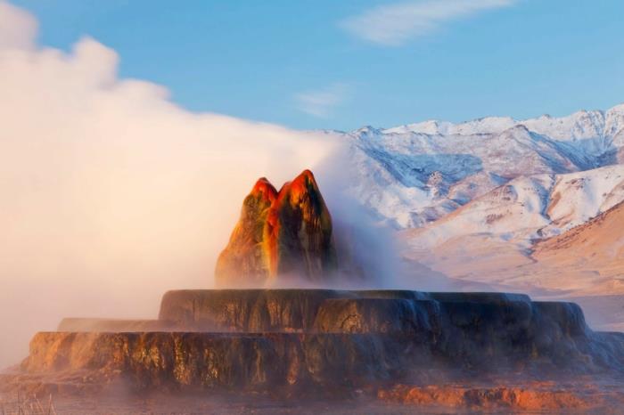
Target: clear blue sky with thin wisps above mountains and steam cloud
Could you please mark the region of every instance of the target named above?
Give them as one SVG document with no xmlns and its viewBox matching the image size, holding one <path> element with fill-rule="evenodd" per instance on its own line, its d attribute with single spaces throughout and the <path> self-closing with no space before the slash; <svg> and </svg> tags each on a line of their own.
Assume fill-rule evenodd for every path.
<svg viewBox="0 0 624 415">
<path fill-rule="evenodd" d="M 189 110 L 296 128 L 561 116 L 624 102 L 621 0 L 14 0 Z"/>
</svg>

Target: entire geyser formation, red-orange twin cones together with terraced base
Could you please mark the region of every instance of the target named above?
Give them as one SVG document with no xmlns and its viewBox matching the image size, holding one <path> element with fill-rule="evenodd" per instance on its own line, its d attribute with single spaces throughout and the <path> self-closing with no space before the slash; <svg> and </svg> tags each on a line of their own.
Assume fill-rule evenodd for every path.
<svg viewBox="0 0 624 415">
<path fill-rule="evenodd" d="M 219 257 L 217 280 L 265 286 L 295 275 L 329 286 L 330 278 L 341 278 L 332 232 L 311 172 L 280 191 L 260 179 Z M 0 374 L 0 392 L 365 394 L 546 408 L 524 402 L 537 396 L 552 410 L 595 403 L 544 387 L 527 393 L 518 383 L 556 386 L 581 375 L 621 390 L 624 334 L 590 330 L 572 303 L 505 293 L 206 289 L 169 291 L 153 320 L 65 319 L 59 331 L 37 333 L 29 357 Z"/>
</svg>

